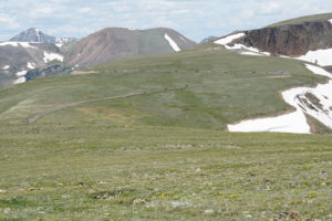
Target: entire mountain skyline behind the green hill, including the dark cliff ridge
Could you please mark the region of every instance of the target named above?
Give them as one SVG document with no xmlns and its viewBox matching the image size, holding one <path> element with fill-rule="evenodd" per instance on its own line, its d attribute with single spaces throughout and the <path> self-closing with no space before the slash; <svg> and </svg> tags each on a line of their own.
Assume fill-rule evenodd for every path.
<svg viewBox="0 0 332 221">
<path fill-rule="evenodd" d="M 209 36 L 200 44 L 221 44 L 247 55 L 288 56 L 322 66 L 332 66 L 332 14 L 318 14 L 282 21 L 262 29 Z M 23 83 L 38 76 L 58 74 L 56 70 L 84 69 L 129 57 L 190 50 L 196 43 L 172 29 L 131 30 L 107 28 L 81 40 L 55 38 L 31 28 L 0 42 L 0 87 Z M 212 45 L 211 45 L 212 46 Z M 64 69 L 49 69 L 52 65 Z M 48 70 L 45 72 L 44 70 Z M 50 71 L 51 70 L 51 71 Z"/>
</svg>

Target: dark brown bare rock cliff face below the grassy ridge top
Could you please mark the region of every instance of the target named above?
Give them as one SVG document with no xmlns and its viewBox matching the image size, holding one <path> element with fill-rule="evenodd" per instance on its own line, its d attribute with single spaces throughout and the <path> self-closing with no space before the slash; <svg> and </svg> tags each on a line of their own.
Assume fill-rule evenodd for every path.
<svg viewBox="0 0 332 221">
<path fill-rule="evenodd" d="M 235 41 L 271 54 L 300 56 L 308 51 L 332 48 L 332 24 L 311 21 L 246 31 L 246 36 Z"/>
</svg>

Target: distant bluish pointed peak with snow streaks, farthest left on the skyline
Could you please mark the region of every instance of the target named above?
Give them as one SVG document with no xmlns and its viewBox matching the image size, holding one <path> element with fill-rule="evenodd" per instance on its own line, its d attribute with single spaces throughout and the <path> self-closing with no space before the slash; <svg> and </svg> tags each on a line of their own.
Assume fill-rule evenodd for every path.
<svg viewBox="0 0 332 221">
<path fill-rule="evenodd" d="M 19 33 L 18 35 L 11 38 L 9 41 L 12 42 L 42 42 L 42 43 L 53 43 L 55 44 L 55 36 L 48 35 L 42 31 L 30 28 L 27 31 Z"/>
</svg>

